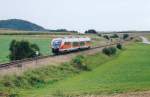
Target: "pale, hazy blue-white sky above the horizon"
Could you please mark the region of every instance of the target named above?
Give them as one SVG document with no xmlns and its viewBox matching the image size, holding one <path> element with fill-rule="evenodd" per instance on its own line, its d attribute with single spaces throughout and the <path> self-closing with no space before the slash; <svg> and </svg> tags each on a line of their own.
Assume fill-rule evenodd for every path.
<svg viewBox="0 0 150 97">
<path fill-rule="evenodd" d="M 47 29 L 150 30 L 150 0 L 0 0 L 0 20 Z"/>
</svg>

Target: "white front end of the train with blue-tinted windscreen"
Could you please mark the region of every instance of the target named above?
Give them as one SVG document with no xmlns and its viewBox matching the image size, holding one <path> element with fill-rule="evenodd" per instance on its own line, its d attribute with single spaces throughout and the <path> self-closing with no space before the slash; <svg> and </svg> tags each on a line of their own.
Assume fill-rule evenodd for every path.
<svg viewBox="0 0 150 97">
<path fill-rule="evenodd" d="M 61 43 L 62 43 L 61 38 L 56 38 L 52 40 L 51 47 L 52 47 L 52 52 L 54 54 L 58 54 L 60 52 L 59 49 L 60 49 Z"/>
</svg>

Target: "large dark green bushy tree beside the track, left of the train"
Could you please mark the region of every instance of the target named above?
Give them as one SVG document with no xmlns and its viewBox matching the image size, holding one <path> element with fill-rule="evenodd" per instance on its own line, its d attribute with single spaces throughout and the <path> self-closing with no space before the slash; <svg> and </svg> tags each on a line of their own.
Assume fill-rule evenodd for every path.
<svg viewBox="0 0 150 97">
<path fill-rule="evenodd" d="M 40 52 L 39 47 L 36 44 L 31 44 L 28 41 L 16 41 L 12 40 L 10 43 L 10 60 L 21 60 L 24 58 L 36 57 L 36 51 Z"/>
</svg>

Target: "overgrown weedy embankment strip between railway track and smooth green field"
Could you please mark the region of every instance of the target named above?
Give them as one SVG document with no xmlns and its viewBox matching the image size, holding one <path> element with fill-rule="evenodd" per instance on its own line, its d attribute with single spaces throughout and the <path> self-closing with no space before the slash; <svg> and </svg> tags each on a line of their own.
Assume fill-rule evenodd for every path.
<svg viewBox="0 0 150 97">
<path fill-rule="evenodd" d="M 20 94 L 18 93 L 20 89 L 28 90 L 41 88 L 43 85 L 53 85 L 60 80 L 80 74 L 82 71 L 93 70 L 112 58 L 102 53 L 91 56 L 79 55 L 73 58 L 71 62 L 60 66 L 46 66 L 35 70 L 28 70 L 21 75 L 5 76 L 0 79 L 0 90 L 6 94 L 18 95 Z M 13 92 L 14 89 L 18 91 Z M 63 95 L 63 92 L 57 93 L 54 94 Z"/>
</svg>

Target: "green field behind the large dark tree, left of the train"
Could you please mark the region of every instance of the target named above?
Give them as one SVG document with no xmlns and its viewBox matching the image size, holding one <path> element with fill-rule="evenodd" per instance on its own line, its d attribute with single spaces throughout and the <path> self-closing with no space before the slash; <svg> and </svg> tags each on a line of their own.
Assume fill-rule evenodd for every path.
<svg viewBox="0 0 150 97">
<path fill-rule="evenodd" d="M 18 36 L 10 36 L 10 35 L 1 35 L 0 36 L 0 63 L 9 61 L 9 44 L 13 40 L 27 40 L 31 43 L 35 43 L 40 47 L 40 51 L 43 55 L 51 54 L 50 42 L 51 38 L 44 38 L 38 35 L 18 35 Z"/>
</svg>

